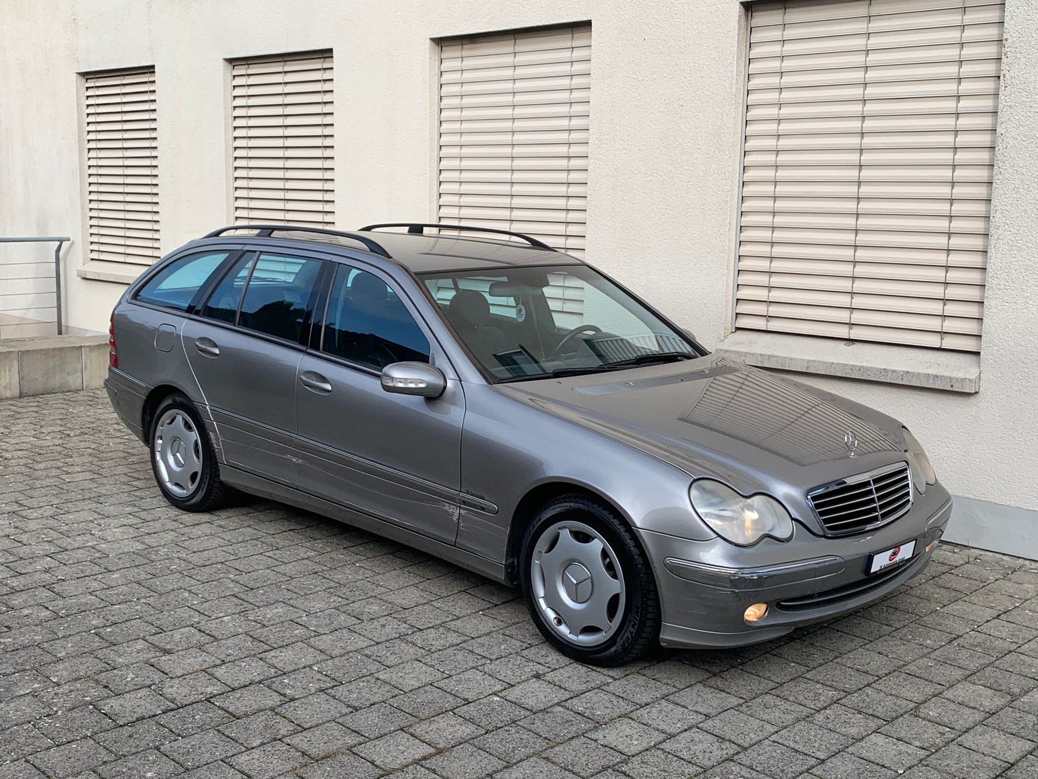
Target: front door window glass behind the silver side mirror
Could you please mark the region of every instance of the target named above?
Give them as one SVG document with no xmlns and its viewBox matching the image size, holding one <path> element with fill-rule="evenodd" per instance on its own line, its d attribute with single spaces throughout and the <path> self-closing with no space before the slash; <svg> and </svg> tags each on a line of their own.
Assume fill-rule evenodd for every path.
<svg viewBox="0 0 1038 779">
<path fill-rule="evenodd" d="M 335 271 L 321 349 L 376 371 L 429 361 L 429 341 L 392 288 L 348 265 Z"/>
</svg>

